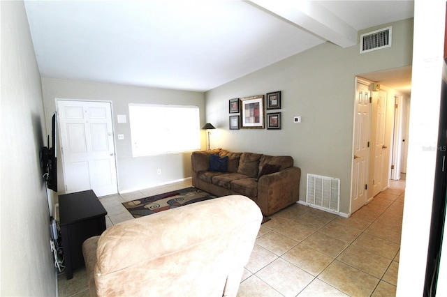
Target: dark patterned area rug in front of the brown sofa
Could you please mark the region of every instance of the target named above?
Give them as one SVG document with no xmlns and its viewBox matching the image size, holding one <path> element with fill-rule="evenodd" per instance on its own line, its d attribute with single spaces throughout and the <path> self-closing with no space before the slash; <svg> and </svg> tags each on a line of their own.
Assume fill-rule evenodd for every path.
<svg viewBox="0 0 447 297">
<path fill-rule="evenodd" d="M 133 218 L 140 218 L 145 215 L 152 215 L 153 213 L 166 211 L 170 208 L 176 208 L 214 198 L 219 197 L 198 188 L 191 187 L 124 202 L 123 205 L 129 213 L 133 215 Z M 270 218 L 263 217 L 262 224 L 269 220 Z"/>
</svg>

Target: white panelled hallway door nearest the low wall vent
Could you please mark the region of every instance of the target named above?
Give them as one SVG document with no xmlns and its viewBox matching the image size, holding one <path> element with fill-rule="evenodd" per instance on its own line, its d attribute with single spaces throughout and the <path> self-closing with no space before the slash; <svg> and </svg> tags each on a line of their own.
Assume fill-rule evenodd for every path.
<svg viewBox="0 0 447 297">
<path fill-rule="evenodd" d="M 357 79 L 356 111 L 354 118 L 353 168 L 351 213 L 364 206 L 367 198 L 367 170 L 369 158 L 369 84 Z"/>
</svg>

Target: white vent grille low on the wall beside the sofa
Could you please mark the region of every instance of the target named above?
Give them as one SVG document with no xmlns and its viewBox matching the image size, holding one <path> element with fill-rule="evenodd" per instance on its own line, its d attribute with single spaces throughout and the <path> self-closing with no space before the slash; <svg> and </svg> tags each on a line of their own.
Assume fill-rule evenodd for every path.
<svg viewBox="0 0 447 297">
<path fill-rule="evenodd" d="M 339 212 L 340 179 L 307 174 L 306 203 L 327 211 Z"/>
</svg>

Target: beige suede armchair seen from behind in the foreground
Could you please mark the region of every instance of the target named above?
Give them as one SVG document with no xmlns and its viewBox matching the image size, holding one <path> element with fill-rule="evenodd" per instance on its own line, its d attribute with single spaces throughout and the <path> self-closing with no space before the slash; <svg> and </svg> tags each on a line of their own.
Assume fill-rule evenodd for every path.
<svg viewBox="0 0 447 297">
<path fill-rule="evenodd" d="M 236 296 L 263 216 L 231 195 L 129 220 L 82 245 L 91 296 Z"/>
</svg>

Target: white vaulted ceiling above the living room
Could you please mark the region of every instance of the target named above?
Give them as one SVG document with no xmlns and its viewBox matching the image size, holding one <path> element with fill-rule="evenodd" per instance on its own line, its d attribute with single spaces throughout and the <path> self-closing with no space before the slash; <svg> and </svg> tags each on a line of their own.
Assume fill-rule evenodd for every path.
<svg viewBox="0 0 447 297">
<path fill-rule="evenodd" d="M 42 77 L 207 91 L 413 17 L 413 1 L 25 1 Z M 411 71 L 411 70 L 410 70 Z"/>
</svg>

